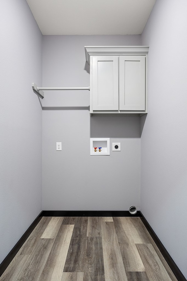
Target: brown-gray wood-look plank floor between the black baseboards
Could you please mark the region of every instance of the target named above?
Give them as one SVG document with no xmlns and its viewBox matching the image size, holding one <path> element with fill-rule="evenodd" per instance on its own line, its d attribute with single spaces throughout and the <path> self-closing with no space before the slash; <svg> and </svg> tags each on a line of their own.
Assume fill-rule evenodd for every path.
<svg viewBox="0 0 187 281">
<path fill-rule="evenodd" d="M 139 217 L 42 217 L 0 281 L 177 281 Z"/>
</svg>

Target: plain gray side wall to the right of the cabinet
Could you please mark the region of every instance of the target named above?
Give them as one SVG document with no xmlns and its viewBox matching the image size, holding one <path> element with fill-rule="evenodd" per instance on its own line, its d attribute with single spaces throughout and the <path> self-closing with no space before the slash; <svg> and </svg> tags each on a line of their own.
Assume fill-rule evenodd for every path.
<svg viewBox="0 0 187 281">
<path fill-rule="evenodd" d="M 187 3 L 157 0 L 149 45 L 148 115 L 142 117 L 141 211 L 187 277 Z"/>
</svg>

